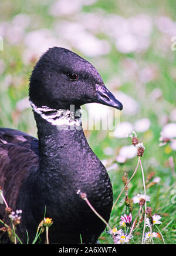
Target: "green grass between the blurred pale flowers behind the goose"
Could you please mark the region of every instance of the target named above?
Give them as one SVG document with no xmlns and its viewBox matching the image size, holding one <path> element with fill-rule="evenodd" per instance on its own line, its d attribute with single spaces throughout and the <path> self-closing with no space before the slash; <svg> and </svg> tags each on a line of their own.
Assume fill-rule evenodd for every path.
<svg viewBox="0 0 176 256">
<path fill-rule="evenodd" d="M 9 24 L 11 24 L 14 16 L 18 14 L 28 14 L 33 20 L 24 29 L 22 39 L 18 44 L 12 44 L 8 36 L 3 35 L 4 51 L 0 52 L 0 61 L 2 60 L 2 65 L 0 65 L 0 126 L 19 129 L 33 136 L 36 136 L 36 125 L 32 110 L 30 108 L 23 110 L 16 108 L 19 100 L 28 97 L 28 78 L 35 64 L 35 59 L 27 63 L 24 61 L 23 53 L 28 48 L 28 45 L 24 43 L 25 36 L 29 31 L 41 28 L 48 28 L 55 35 L 54 28 L 56 22 L 63 20 L 75 22 L 76 20 L 74 15 L 70 15 L 70 17 L 59 16 L 57 18 L 50 15 L 49 8 L 52 2 L 45 1 L 45 4 L 41 4 L 40 1 L 31 1 L 30 5 L 26 5 L 24 1 L 19 0 L 14 5 L 12 2 L 7 4 L 5 1 L 2 1 L 0 8 L 1 19 L 9 22 Z M 129 4 L 128 1 L 117 2 L 111 0 L 109 4 L 107 4 L 107 1 L 97 1 L 93 5 L 83 6 L 82 10 L 79 11 L 79 14 L 83 12 L 97 12 L 97 19 L 99 11 L 103 11 L 104 22 L 106 22 L 107 16 L 112 14 L 120 15 L 127 19 L 131 16 L 143 14 L 148 15 L 153 24 L 150 34 L 150 46 L 146 51 L 134 51 L 124 54 L 117 51 L 113 37 L 107 35 L 106 32 L 101 32 L 100 34 L 95 34 L 95 36 L 107 39 L 111 46 L 111 51 L 105 56 L 85 56 L 85 58 L 97 67 L 107 86 L 110 84 L 111 78 L 117 77 L 120 80 L 120 85 L 113 89 L 130 95 L 138 102 L 138 112 L 135 115 L 128 115 L 122 112 L 120 116 L 121 122 L 128 121 L 134 124 L 138 119 L 144 117 L 150 119 L 150 128 L 145 132 L 138 132 L 138 138 L 145 145 L 144 156 L 141 159 L 145 180 L 151 171 L 155 172 L 154 177 L 161 178 L 160 183 L 146 188 L 146 193 L 151 198 L 147 205 L 153 209 L 153 212 L 162 217 L 162 224 L 158 227 L 163 235 L 165 244 L 175 244 L 176 238 L 175 169 L 170 163 L 170 160 L 173 159 L 175 164 L 176 156 L 170 144 L 159 147 L 158 139 L 164 124 L 171 122 L 170 112 L 175 108 L 176 55 L 170 49 L 170 39 L 174 35 L 159 31 L 155 25 L 155 19 L 158 16 L 168 16 L 174 19 L 174 9 L 175 1 L 171 0 L 163 1 L 162 5 L 160 1 L 146 1 L 141 4 L 140 1 L 135 0 Z M 77 22 L 85 25 L 78 15 Z M 163 41 L 165 41 L 165 45 L 162 43 Z M 73 50 L 83 56 L 82 52 L 79 52 L 79 49 L 76 49 L 75 46 L 73 46 Z M 130 65 L 127 65 L 127 60 L 130 61 Z M 148 67 L 154 72 L 154 76 L 147 81 L 141 81 L 141 71 Z M 160 89 L 161 95 L 159 98 L 152 99 L 151 93 L 155 88 Z M 86 131 L 86 136 L 95 154 L 100 159 L 108 159 L 109 161 L 113 161 L 116 158 L 121 147 L 131 145 L 130 138 L 109 137 L 107 131 Z M 113 149 L 113 153 L 110 155 L 106 155 L 104 151 L 107 147 Z M 113 184 L 114 201 L 124 188 L 123 181 L 121 180 L 124 173 L 126 172 L 129 178 L 133 175 L 137 165 L 137 158 L 127 159 L 123 164 L 119 162 L 117 164 L 117 169 L 109 168 L 109 175 Z M 129 198 L 144 190 L 143 179 L 139 169 L 130 181 L 128 188 Z M 110 227 L 120 228 L 119 221 L 121 215 L 128 214 L 128 207 L 124 203 L 124 198 L 125 194 L 123 192 L 111 212 Z M 138 205 L 134 205 L 134 218 L 138 210 Z M 131 242 L 134 244 L 141 243 L 143 225 L 140 225 L 135 232 Z M 158 232 L 157 229 L 155 232 Z M 153 238 L 153 241 L 154 243 L 163 243 L 158 238 Z M 104 231 L 99 238 L 99 242 L 100 244 L 111 244 L 113 238 L 107 231 Z"/>
</svg>

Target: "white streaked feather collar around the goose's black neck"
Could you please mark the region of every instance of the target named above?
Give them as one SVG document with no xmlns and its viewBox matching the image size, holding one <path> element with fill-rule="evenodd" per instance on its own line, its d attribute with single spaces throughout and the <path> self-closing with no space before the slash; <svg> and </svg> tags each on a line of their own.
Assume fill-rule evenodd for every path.
<svg viewBox="0 0 176 256">
<path fill-rule="evenodd" d="M 37 107 L 32 101 L 30 101 L 33 111 L 38 113 L 40 117 L 50 122 L 52 125 L 57 126 L 72 126 L 80 127 L 81 121 L 81 109 L 77 111 L 70 111 L 69 109 L 53 109 L 47 106 Z M 74 106 L 74 105 L 71 105 Z M 74 109 L 75 110 L 75 109 Z"/>
</svg>

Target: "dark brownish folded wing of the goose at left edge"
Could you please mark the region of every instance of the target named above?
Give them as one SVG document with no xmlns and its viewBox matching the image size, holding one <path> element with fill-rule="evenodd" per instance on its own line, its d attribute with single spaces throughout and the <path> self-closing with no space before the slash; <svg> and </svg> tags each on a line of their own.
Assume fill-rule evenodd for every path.
<svg viewBox="0 0 176 256">
<path fill-rule="evenodd" d="M 0 128 L 0 185 L 8 205 L 16 210 L 16 200 L 23 181 L 32 168 L 38 168 L 38 139 L 14 129 Z M 4 204 L 1 219 L 9 223 Z"/>
</svg>

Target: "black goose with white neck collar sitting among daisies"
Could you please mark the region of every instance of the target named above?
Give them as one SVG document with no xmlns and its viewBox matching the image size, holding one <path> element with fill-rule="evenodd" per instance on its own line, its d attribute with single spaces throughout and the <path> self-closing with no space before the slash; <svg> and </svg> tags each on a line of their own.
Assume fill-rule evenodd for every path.
<svg viewBox="0 0 176 256">
<path fill-rule="evenodd" d="M 85 192 L 109 221 L 113 191 L 106 169 L 84 136 L 80 106 L 98 102 L 123 107 L 92 64 L 57 47 L 45 52 L 33 69 L 29 99 L 38 139 L 0 129 L 0 186 L 9 207 L 22 210 L 17 233 L 25 243 L 28 230 L 32 242 L 46 207 L 46 217 L 53 220 L 50 243 L 77 244 L 80 234 L 83 243 L 94 243 L 105 225 L 76 192 Z M 4 204 L 0 218 L 8 222 Z"/>
</svg>

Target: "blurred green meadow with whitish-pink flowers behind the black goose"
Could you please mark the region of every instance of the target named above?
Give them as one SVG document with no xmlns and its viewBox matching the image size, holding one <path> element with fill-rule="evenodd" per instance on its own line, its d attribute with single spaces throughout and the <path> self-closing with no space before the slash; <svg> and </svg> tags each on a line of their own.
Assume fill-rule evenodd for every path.
<svg viewBox="0 0 176 256">
<path fill-rule="evenodd" d="M 145 177 L 154 171 L 154 177 L 160 178 L 147 189 L 151 197 L 148 206 L 162 216 L 161 232 L 166 243 L 175 243 L 176 238 L 175 9 L 174 0 L 0 2 L 1 127 L 36 137 L 28 84 L 33 65 L 46 49 L 62 46 L 86 58 L 124 105 L 121 131 L 114 132 L 113 137 L 109 131 L 86 131 L 89 144 L 107 166 L 116 199 L 123 188 L 122 175 L 127 172 L 130 177 L 137 164 L 136 152 L 126 135 L 137 132 L 145 146 Z M 84 108 L 90 116 L 96 112 L 104 118 L 105 108 L 99 104 Z M 160 146 L 161 142 L 164 145 Z M 130 182 L 129 197 L 141 191 L 138 171 Z M 134 207 L 134 215 L 137 209 Z M 123 195 L 110 224 L 119 227 L 120 216 L 126 211 Z M 138 243 L 141 230 L 136 233 L 133 242 Z M 106 231 L 99 241 L 112 242 Z"/>
</svg>

